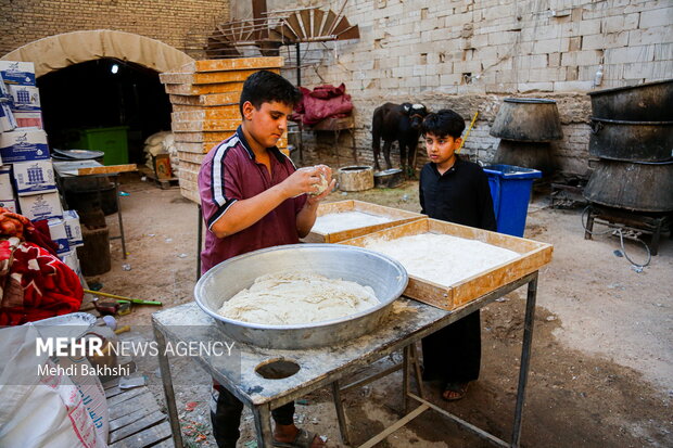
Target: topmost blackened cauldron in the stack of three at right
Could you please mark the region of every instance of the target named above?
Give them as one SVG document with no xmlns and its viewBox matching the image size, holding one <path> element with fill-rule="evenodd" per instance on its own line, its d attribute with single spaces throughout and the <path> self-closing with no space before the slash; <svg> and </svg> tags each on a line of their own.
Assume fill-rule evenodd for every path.
<svg viewBox="0 0 673 448">
<path fill-rule="evenodd" d="M 673 79 L 589 92 L 592 114 L 630 121 L 673 120 Z"/>
</svg>

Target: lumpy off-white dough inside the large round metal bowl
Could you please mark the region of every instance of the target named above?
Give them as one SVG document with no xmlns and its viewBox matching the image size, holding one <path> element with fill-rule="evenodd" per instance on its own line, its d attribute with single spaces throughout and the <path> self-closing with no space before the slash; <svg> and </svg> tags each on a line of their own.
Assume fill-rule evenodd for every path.
<svg viewBox="0 0 673 448">
<path fill-rule="evenodd" d="M 373 290 L 317 273 L 271 273 L 225 300 L 219 315 L 269 325 L 321 322 L 379 305 Z"/>
</svg>

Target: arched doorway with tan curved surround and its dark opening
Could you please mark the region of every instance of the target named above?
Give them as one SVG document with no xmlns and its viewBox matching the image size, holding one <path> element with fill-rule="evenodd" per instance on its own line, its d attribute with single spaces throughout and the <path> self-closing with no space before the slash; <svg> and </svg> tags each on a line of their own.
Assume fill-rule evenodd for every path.
<svg viewBox="0 0 673 448">
<path fill-rule="evenodd" d="M 170 130 L 170 104 L 158 81 L 193 60 L 154 39 L 107 29 L 51 36 L 4 56 L 33 62 L 45 130 L 52 148 L 82 148 L 88 130 L 126 132 L 127 163 L 143 163 L 143 141 Z M 86 148 L 86 146 L 85 146 Z"/>
</svg>

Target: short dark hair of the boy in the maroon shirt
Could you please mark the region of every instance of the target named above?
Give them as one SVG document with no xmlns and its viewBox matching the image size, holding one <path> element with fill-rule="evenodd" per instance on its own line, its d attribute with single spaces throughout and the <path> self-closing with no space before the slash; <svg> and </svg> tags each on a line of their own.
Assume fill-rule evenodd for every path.
<svg viewBox="0 0 673 448">
<path fill-rule="evenodd" d="M 262 103 L 272 101 L 294 107 L 301 98 L 300 90 L 282 76 L 268 71 L 259 71 L 250 75 L 243 82 L 239 111 L 243 116 L 243 103 L 246 101 L 250 101 L 257 110 L 262 107 Z"/>
</svg>

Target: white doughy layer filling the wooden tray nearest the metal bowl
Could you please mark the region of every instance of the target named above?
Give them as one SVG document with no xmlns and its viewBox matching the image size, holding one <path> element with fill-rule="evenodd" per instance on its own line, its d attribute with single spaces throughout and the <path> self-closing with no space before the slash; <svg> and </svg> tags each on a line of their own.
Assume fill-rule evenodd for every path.
<svg viewBox="0 0 673 448">
<path fill-rule="evenodd" d="M 409 276 L 446 286 L 519 257 L 481 241 L 435 233 L 391 241 L 371 239 L 365 247 L 395 258 Z"/>
</svg>

